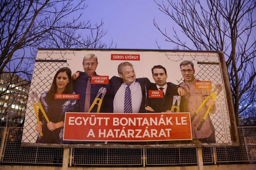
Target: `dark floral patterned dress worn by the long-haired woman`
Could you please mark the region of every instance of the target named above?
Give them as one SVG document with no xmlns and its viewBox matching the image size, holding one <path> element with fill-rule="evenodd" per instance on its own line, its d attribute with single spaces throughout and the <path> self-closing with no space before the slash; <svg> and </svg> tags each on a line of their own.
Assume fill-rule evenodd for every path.
<svg viewBox="0 0 256 170">
<path fill-rule="evenodd" d="M 64 122 L 65 119 L 65 112 L 78 112 L 78 101 L 76 99 L 53 99 L 49 100 L 46 98 L 47 92 L 41 94 L 40 102 L 46 113 L 49 121 L 53 123 L 58 123 L 60 121 Z M 75 94 L 75 92 L 73 92 Z M 58 128 L 54 131 L 50 131 L 47 128 L 47 121 L 44 118 L 43 113 L 39 109 L 38 112 L 39 120 L 42 121 L 42 133 L 43 136 L 38 134 L 37 143 L 61 143 L 63 140 L 63 129 Z"/>
</svg>

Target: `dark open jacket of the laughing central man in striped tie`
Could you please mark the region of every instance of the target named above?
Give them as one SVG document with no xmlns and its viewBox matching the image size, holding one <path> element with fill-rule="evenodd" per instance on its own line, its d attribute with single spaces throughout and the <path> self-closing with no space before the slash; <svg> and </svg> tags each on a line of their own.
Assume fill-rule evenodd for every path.
<svg viewBox="0 0 256 170">
<path fill-rule="evenodd" d="M 140 104 L 139 113 L 146 113 L 145 112 L 145 100 L 146 100 L 146 91 L 147 89 L 151 88 L 151 82 L 148 78 L 137 78 L 136 82 L 140 84 L 142 90 L 142 102 Z M 107 94 L 103 99 L 103 111 L 106 113 L 113 113 L 113 101 L 114 96 L 116 95 L 118 89 L 123 84 L 123 80 L 120 77 L 113 76 L 110 79 L 110 86 L 107 88 Z"/>
</svg>

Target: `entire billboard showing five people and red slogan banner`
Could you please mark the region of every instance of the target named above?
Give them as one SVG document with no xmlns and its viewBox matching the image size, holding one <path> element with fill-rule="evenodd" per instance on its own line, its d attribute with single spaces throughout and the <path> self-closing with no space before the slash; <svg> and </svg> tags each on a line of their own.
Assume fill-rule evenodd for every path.
<svg viewBox="0 0 256 170">
<path fill-rule="evenodd" d="M 238 143 L 219 51 L 39 49 L 28 101 L 22 145 Z"/>
</svg>

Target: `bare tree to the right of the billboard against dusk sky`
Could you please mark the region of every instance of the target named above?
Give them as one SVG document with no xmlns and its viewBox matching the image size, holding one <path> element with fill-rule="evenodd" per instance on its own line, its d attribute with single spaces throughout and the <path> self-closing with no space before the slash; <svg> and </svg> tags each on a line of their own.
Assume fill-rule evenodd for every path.
<svg viewBox="0 0 256 170">
<path fill-rule="evenodd" d="M 154 26 L 166 41 L 175 45 L 175 49 L 224 51 L 238 124 L 239 114 L 255 103 L 256 1 L 155 2 L 159 10 L 170 17 L 168 23 L 176 24 L 186 36 L 186 40 L 182 39 L 175 26 L 168 33 L 154 19 Z"/>
</svg>

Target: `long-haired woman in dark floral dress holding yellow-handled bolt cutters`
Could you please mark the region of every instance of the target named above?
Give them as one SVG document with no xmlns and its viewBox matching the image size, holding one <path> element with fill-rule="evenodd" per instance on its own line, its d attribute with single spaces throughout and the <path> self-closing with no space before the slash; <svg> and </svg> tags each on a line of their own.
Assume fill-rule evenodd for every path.
<svg viewBox="0 0 256 170">
<path fill-rule="evenodd" d="M 39 125 L 37 143 L 61 143 L 63 140 L 63 127 L 65 112 L 78 112 L 76 99 L 54 99 L 55 94 L 75 94 L 71 78 L 71 70 L 68 67 L 60 68 L 54 75 L 50 90 L 41 94 L 40 102 L 46 113 L 47 123 L 43 113 L 39 109 Z M 42 132 L 43 136 L 40 135 Z"/>
</svg>

